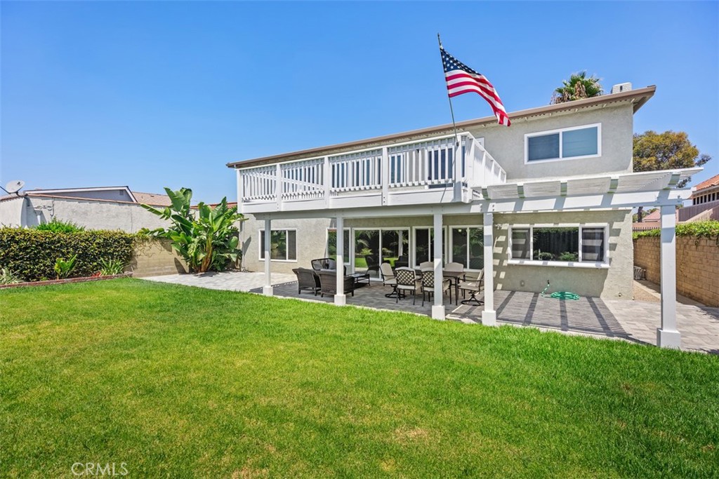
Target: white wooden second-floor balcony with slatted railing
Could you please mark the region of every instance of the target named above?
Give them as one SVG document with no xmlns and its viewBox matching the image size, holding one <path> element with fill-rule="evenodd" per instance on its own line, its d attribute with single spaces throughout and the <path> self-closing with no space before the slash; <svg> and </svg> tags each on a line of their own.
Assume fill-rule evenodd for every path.
<svg viewBox="0 0 719 479">
<path fill-rule="evenodd" d="M 470 203 L 507 174 L 468 133 L 238 168 L 242 213 Z"/>
</svg>

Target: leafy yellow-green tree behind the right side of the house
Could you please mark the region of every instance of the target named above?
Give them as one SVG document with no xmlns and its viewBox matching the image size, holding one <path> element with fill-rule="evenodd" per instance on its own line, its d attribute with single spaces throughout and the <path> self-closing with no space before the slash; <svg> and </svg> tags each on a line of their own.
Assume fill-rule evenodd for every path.
<svg viewBox="0 0 719 479">
<path fill-rule="evenodd" d="M 633 164 L 635 172 L 652 172 L 660 169 L 699 167 L 711 159 L 700 154 L 684 131 L 645 131 L 634 134 Z M 688 180 L 679 182 L 681 188 Z"/>
</svg>

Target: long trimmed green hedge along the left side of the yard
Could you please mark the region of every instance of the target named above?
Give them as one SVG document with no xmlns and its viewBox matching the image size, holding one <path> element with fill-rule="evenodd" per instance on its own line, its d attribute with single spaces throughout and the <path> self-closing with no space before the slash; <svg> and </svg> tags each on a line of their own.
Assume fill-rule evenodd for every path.
<svg viewBox="0 0 719 479">
<path fill-rule="evenodd" d="M 71 278 L 101 269 L 100 259 L 132 259 L 137 235 L 122 231 L 55 233 L 23 228 L 0 228 L 0 268 L 25 281 L 55 279 L 55 260 L 77 254 Z"/>
</svg>

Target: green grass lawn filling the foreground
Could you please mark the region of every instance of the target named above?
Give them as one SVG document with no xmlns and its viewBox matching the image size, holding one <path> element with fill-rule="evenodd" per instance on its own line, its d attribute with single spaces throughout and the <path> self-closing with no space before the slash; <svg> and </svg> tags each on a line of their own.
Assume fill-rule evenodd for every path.
<svg viewBox="0 0 719 479">
<path fill-rule="evenodd" d="M 0 477 L 716 477 L 719 358 L 120 279 L 0 291 Z"/>
</svg>

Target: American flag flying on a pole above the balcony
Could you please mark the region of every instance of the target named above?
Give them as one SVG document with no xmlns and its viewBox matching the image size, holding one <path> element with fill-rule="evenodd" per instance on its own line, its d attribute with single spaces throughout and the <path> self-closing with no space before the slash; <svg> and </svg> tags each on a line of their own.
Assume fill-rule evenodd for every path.
<svg viewBox="0 0 719 479">
<path fill-rule="evenodd" d="M 449 55 L 440 47 L 442 53 L 442 65 L 444 66 L 444 79 L 447 82 L 449 97 L 462 95 L 462 93 L 479 93 L 492 107 L 497 121 L 500 125 L 510 126 L 507 111 L 497 94 L 497 90 L 489 80 L 481 73 L 475 72 L 472 68 L 464 65 L 457 58 Z"/>
</svg>

